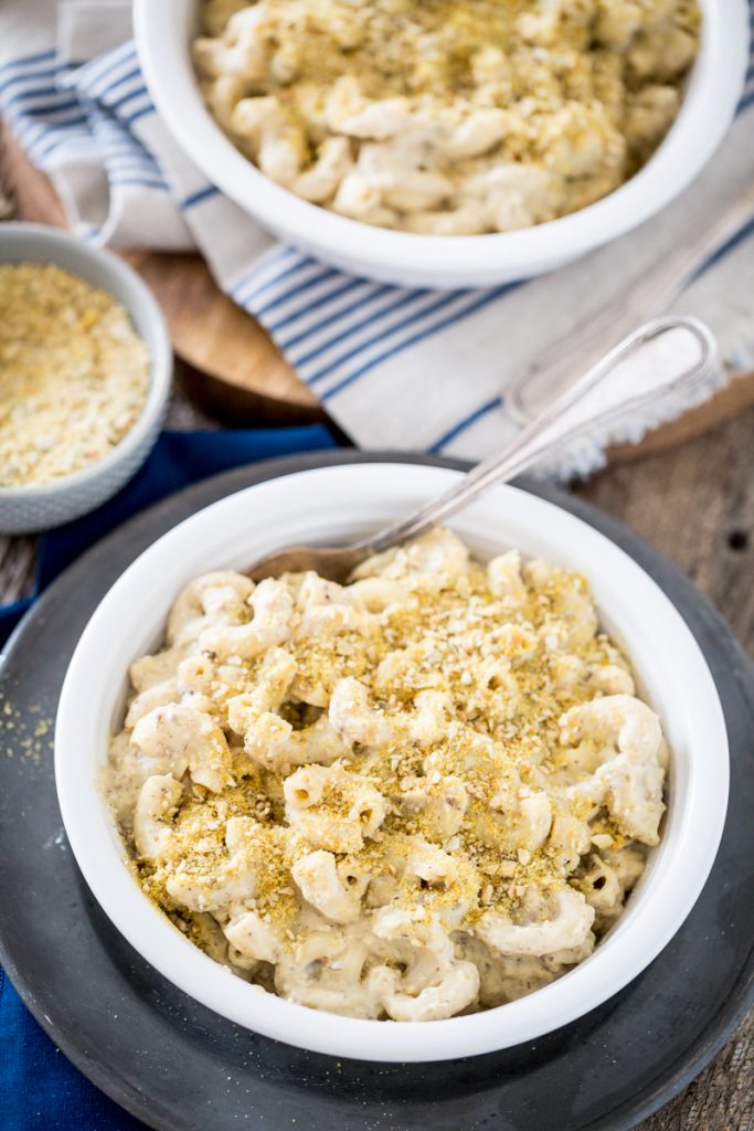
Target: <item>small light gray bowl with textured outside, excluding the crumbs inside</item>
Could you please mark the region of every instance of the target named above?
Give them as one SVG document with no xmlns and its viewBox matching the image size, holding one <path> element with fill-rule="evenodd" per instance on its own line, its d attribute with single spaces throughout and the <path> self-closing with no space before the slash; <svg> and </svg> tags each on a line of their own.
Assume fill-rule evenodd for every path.
<svg viewBox="0 0 754 1131">
<path fill-rule="evenodd" d="M 0 264 L 19 261 L 57 264 L 107 291 L 122 303 L 147 344 L 151 377 L 139 420 L 103 459 L 83 472 L 41 486 L 0 487 L 2 534 L 46 530 L 70 523 L 120 491 L 136 475 L 157 439 L 173 373 L 173 353 L 162 311 L 128 264 L 54 227 L 0 224 Z"/>
</svg>

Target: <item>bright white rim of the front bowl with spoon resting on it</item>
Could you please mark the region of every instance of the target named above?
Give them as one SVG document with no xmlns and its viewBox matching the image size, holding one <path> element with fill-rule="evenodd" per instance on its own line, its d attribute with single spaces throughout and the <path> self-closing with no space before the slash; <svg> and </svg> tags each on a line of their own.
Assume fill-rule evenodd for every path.
<svg viewBox="0 0 754 1131">
<path fill-rule="evenodd" d="M 228 547 L 234 545 L 228 532 L 237 529 L 237 520 L 250 510 L 253 512 L 254 499 L 259 504 L 262 495 L 268 497 L 266 506 L 274 508 L 274 513 L 285 516 L 285 500 L 291 504 L 302 487 L 309 491 L 315 484 L 317 497 L 328 498 L 328 489 L 333 489 L 339 478 L 337 486 L 341 501 L 344 497 L 353 500 L 354 492 L 387 475 L 392 476 L 389 499 L 390 507 L 395 508 L 398 506 L 396 499 L 401 500 L 402 507 L 405 497 L 410 497 L 411 492 L 436 490 L 459 474 L 435 466 L 401 463 L 336 465 L 263 481 L 203 508 L 153 543 L 109 590 L 81 636 L 61 692 L 55 726 L 58 796 L 73 854 L 105 914 L 142 957 L 202 1004 L 266 1036 L 335 1056 L 396 1062 L 476 1055 L 535 1039 L 589 1012 L 638 976 L 679 929 L 707 880 L 725 823 L 728 783 L 725 719 L 707 662 L 681 614 L 659 586 L 615 543 L 554 503 L 520 489 L 504 486 L 496 487 L 487 497 L 496 502 L 499 521 L 504 502 L 505 521 L 509 525 L 522 523 L 532 532 L 531 539 L 535 538 L 534 532 L 543 529 L 546 532 L 541 535 L 545 542 L 552 544 L 564 532 L 567 542 L 570 532 L 572 545 L 579 546 L 577 559 L 596 555 L 601 563 L 600 576 L 605 577 L 605 584 L 608 577 L 609 584 L 615 584 L 608 571 L 617 571 L 624 580 L 627 572 L 639 597 L 649 602 L 652 627 L 657 624 L 670 632 L 673 647 L 662 644 L 660 651 L 665 648 L 666 659 L 673 657 L 673 677 L 679 679 L 676 673 L 683 672 L 691 689 L 677 708 L 678 718 L 684 716 L 684 733 L 693 751 L 686 804 L 683 811 L 676 810 L 678 815 L 674 818 L 673 839 L 666 836 L 657 849 L 665 856 L 658 857 L 660 863 L 652 867 L 653 879 L 650 877 L 642 891 L 643 916 L 638 914 L 642 909 L 641 903 L 635 903 L 633 917 L 630 907 L 591 958 L 519 1002 L 470 1017 L 406 1026 L 321 1013 L 271 995 L 262 999 L 258 992 L 244 987 L 228 970 L 198 951 L 149 904 L 123 863 L 118 834 L 94 784 L 95 775 L 90 775 L 90 780 L 81 775 L 70 757 L 71 751 L 81 744 L 81 713 L 84 716 L 90 713 L 92 702 L 99 693 L 97 679 L 101 683 L 105 681 L 110 696 L 110 700 L 103 696 L 101 719 L 105 708 L 106 722 L 112 719 L 114 691 L 106 684 L 103 649 L 105 655 L 110 653 L 111 666 L 115 664 L 119 633 L 124 639 L 122 634 L 127 631 L 128 618 L 122 615 L 123 607 L 131 610 L 132 618 L 135 603 L 148 604 L 155 599 L 151 593 L 147 593 L 151 588 L 148 584 L 150 579 L 154 582 L 162 578 L 159 585 L 165 585 L 165 592 L 170 590 L 171 597 L 174 597 L 181 580 L 197 572 L 196 566 L 184 563 L 182 550 L 188 552 L 193 546 L 200 546 L 197 553 L 201 558 L 209 542 L 214 566 L 228 564 L 225 559 L 232 552 Z M 318 477 L 318 482 L 313 477 Z M 383 498 L 382 492 L 374 491 L 374 487 L 372 494 L 378 500 Z M 331 498 L 329 506 L 332 506 Z M 511 511 L 513 518 L 510 517 Z M 485 519 L 488 520 L 489 516 L 486 515 Z M 480 523 L 482 511 L 477 516 L 477 529 L 482 528 Z M 214 530 L 209 539 L 201 537 L 205 527 L 206 530 Z M 578 542 L 574 543 L 577 535 Z M 501 535 L 501 543 L 503 541 Z M 525 545 L 521 549 L 527 550 Z M 213 568 L 213 563 L 203 560 L 199 569 L 202 568 Z M 166 577 L 171 570 L 173 580 Z M 150 629 L 164 623 L 167 605 L 168 602 L 158 620 L 153 611 Z M 623 616 L 625 621 L 625 608 Z M 139 647 L 149 646 L 148 639 L 142 639 L 137 646 L 133 625 L 130 630 L 128 659 L 141 654 Z M 154 641 L 154 632 L 150 639 Z M 128 659 L 121 653 L 116 668 L 121 681 Z M 666 670 L 668 663 L 669 659 Z M 685 870 L 683 874 L 682 869 Z M 683 882 L 679 883 L 679 879 Z M 653 916 L 648 914 L 651 910 L 648 907 L 650 898 L 656 905 Z M 658 901 L 662 907 L 661 915 L 657 914 Z M 621 930 L 621 924 L 633 924 L 633 930 Z M 643 929 L 641 948 L 634 946 L 638 927 Z M 532 1009 L 535 1001 L 537 1008 Z"/>
</svg>

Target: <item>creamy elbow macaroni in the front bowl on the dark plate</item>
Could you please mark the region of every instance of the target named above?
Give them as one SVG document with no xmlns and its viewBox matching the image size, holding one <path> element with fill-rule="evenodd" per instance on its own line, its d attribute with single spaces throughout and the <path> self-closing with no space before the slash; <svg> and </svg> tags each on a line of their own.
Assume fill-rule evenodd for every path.
<svg viewBox="0 0 754 1131">
<path fill-rule="evenodd" d="M 130 671 L 105 789 L 144 891 L 240 977 L 352 1017 L 485 1009 L 587 958 L 667 750 L 583 578 L 437 529 L 352 582 L 207 573 Z"/>
</svg>

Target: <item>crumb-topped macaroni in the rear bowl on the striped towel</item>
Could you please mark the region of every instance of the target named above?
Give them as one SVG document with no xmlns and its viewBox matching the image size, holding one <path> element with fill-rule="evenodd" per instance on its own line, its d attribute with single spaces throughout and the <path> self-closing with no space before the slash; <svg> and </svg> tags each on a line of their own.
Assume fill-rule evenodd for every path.
<svg viewBox="0 0 754 1131">
<path fill-rule="evenodd" d="M 207 104 L 274 181 L 344 216 L 506 232 L 612 192 L 681 105 L 695 0 L 206 0 Z"/>
</svg>

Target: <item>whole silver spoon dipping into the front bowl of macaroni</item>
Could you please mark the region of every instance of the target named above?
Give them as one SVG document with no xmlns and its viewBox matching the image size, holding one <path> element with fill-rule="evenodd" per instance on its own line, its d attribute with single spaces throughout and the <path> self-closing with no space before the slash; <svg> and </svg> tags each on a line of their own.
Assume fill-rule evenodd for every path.
<svg viewBox="0 0 754 1131">
<path fill-rule="evenodd" d="M 621 388 L 621 382 L 614 382 L 610 388 L 610 378 L 615 377 L 614 370 L 618 365 L 635 351 L 673 330 L 686 330 L 695 339 L 699 353 L 691 364 L 673 377 L 655 375 L 643 390 L 638 391 L 633 381 L 629 382 L 629 389 Z M 609 425 L 624 414 L 659 404 L 669 394 L 683 394 L 692 399 L 713 371 L 717 360 L 714 337 L 697 319 L 668 316 L 645 322 L 549 404 L 502 452 L 477 464 L 437 499 L 350 545 L 289 546 L 255 561 L 246 572 L 254 580 L 260 580 L 265 577 L 279 577 L 280 573 L 315 570 L 332 581 L 345 581 L 366 558 L 424 534 L 493 484 L 513 478 L 543 456 L 588 434 L 592 429 Z"/>
</svg>

